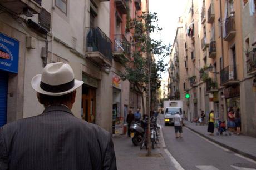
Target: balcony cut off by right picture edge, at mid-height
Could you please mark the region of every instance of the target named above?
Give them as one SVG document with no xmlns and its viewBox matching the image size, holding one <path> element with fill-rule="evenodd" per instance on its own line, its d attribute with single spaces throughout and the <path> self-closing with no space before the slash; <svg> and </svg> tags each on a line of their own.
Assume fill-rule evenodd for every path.
<svg viewBox="0 0 256 170">
<path fill-rule="evenodd" d="M 256 74 L 256 49 L 246 54 L 247 73 L 250 75 Z"/>
</svg>

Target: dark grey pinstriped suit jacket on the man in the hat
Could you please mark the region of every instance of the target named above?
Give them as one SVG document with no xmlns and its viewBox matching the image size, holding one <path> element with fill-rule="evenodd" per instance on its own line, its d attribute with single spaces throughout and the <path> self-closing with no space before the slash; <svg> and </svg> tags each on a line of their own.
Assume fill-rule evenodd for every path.
<svg viewBox="0 0 256 170">
<path fill-rule="evenodd" d="M 0 169 L 116 169 L 111 134 L 50 106 L 0 128 Z"/>
</svg>

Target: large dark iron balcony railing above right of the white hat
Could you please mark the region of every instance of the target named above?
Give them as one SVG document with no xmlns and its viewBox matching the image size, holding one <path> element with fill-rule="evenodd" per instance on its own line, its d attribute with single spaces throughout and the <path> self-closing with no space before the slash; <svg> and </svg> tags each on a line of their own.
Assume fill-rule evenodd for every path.
<svg viewBox="0 0 256 170">
<path fill-rule="evenodd" d="M 87 52 L 100 52 L 112 62 L 112 42 L 99 27 L 86 28 Z"/>
</svg>

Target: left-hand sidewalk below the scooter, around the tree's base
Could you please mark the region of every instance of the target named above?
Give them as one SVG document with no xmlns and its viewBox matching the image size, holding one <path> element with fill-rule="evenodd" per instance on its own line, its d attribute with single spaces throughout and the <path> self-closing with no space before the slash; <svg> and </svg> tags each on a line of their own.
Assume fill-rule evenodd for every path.
<svg viewBox="0 0 256 170">
<path fill-rule="evenodd" d="M 118 170 L 157 170 L 174 169 L 170 164 L 170 158 L 165 154 L 163 148 L 157 147 L 151 150 L 151 156 L 146 156 L 147 150 L 140 150 L 139 146 L 134 146 L 131 138 L 127 135 L 117 135 L 113 137 L 116 163 Z"/>
</svg>

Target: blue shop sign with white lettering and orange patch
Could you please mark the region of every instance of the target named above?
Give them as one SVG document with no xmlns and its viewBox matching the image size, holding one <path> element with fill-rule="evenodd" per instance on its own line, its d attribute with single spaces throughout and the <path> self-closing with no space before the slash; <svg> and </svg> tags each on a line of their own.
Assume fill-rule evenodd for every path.
<svg viewBox="0 0 256 170">
<path fill-rule="evenodd" d="M 19 42 L 0 33 L 0 70 L 18 73 Z"/>
</svg>

